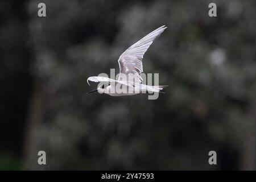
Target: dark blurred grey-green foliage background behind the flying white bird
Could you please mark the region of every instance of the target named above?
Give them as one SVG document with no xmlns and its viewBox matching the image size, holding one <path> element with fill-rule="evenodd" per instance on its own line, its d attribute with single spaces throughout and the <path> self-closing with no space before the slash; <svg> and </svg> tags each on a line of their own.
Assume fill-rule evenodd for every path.
<svg viewBox="0 0 256 182">
<path fill-rule="evenodd" d="M 255 7 L 0 1 L 0 169 L 254 170 Z M 118 71 L 121 53 L 163 24 L 143 63 L 166 94 L 86 95 L 97 86 L 89 76 Z M 211 150 L 217 165 L 208 164 Z"/>
</svg>

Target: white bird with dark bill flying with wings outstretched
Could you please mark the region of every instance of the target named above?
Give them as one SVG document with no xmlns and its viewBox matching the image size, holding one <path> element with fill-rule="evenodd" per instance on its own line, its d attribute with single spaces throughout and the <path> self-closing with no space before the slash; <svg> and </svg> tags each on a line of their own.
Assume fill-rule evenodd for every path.
<svg viewBox="0 0 256 182">
<path fill-rule="evenodd" d="M 164 86 L 160 85 L 144 85 L 142 84 L 141 73 L 143 73 L 142 59 L 144 53 L 147 51 L 148 47 L 152 42 L 162 34 L 162 32 L 167 27 L 161 26 L 156 30 L 152 31 L 150 34 L 144 36 L 133 46 L 126 49 L 125 52 L 118 59 L 119 64 L 119 78 L 118 80 L 113 80 L 108 77 L 92 76 L 87 79 L 88 81 L 94 82 L 110 82 L 110 85 L 105 86 L 105 84 L 98 86 L 88 93 L 99 92 L 106 93 L 110 96 L 129 96 L 138 93 L 152 93 L 160 92 Z M 89 84 L 89 82 L 88 82 Z M 116 85 L 115 85 L 116 84 Z M 90 84 L 89 84 L 90 85 Z M 112 91 L 114 90 L 114 91 Z M 127 92 L 123 92 L 126 90 Z"/>
</svg>

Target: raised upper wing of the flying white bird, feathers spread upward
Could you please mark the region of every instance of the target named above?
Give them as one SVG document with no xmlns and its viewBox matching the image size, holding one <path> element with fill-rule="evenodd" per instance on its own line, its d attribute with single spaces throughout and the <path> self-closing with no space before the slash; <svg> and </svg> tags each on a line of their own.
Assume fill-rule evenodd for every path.
<svg viewBox="0 0 256 182">
<path fill-rule="evenodd" d="M 127 82 L 141 82 L 142 77 L 139 75 L 143 72 L 142 59 L 144 53 L 147 51 L 148 47 L 152 44 L 152 42 L 162 34 L 162 32 L 166 29 L 166 26 L 162 26 L 152 31 L 150 34 L 144 36 L 137 43 L 133 44 L 133 46 L 126 49 L 125 52 L 118 59 L 120 75 L 118 80 L 123 80 L 123 77 L 128 77 L 129 73 L 132 73 L 134 77 L 133 80 Z"/>
</svg>

